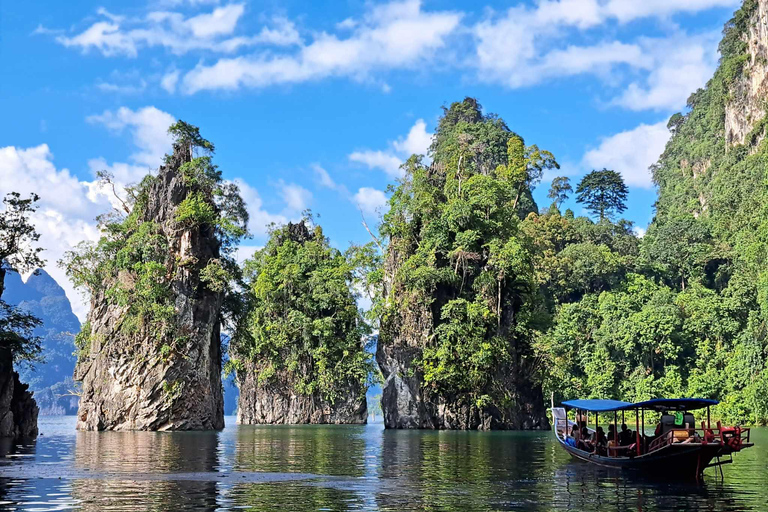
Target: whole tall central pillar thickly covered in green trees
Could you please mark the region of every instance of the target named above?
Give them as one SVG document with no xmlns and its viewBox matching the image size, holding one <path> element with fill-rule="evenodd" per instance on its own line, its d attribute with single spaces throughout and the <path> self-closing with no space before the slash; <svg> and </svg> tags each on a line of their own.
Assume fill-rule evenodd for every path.
<svg viewBox="0 0 768 512">
<path fill-rule="evenodd" d="M 418 156 L 406 162 L 380 227 L 389 243 L 377 353 L 391 383 L 383 392 L 385 423 L 519 428 L 543 421 L 540 403 L 521 412 L 541 396 L 529 358 L 537 292 L 519 219 L 536 211 L 531 188 L 557 162 L 472 98 L 445 109 L 430 156 L 429 166 Z M 417 352 L 398 348 L 404 345 Z M 410 392 L 395 386 L 392 373 Z M 401 406 L 414 397 L 424 403 Z M 430 409 L 438 402 L 448 402 L 444 411 Z M 404 417 L 416 410 L 426 412 Z"/>
</svg>

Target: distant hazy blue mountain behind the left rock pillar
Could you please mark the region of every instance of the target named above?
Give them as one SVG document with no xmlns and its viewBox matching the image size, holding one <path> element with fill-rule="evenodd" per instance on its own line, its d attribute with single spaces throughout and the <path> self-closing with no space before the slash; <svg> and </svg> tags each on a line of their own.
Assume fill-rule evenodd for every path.
<svg viewBox="0 0 768 512">
<path fill-rule="evenodd" d="M 72 373 L 77 358 L 74 336 L 80 330 L 80 321 L 59 286 L 46 271 L 39 270 L 25 283 L 21 276 L 11 272 L 5 279 L 3 299 L 17 305 L 42 320 L 35 330 L 42 338 L 44 363 L 34 367 L 21 366 L 18 371 L 22 382 L 29 384 L 41 415 L 76 414 L 78 398 L 74 390 Z"/>
</svg>

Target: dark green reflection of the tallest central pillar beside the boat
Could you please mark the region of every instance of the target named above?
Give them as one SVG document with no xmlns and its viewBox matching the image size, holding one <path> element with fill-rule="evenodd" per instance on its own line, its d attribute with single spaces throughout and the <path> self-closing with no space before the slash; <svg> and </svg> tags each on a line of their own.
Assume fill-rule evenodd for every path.
<svg viewBox="0 0 768 512">
<path fill-rule="evenodd" d="M 513 442 L 512 436 L 530 437 Z M 547 470 L 544 443 L 526 433 L 386 431 L 381 510 L 548 510 L 532 500 Z"/>
</svg>

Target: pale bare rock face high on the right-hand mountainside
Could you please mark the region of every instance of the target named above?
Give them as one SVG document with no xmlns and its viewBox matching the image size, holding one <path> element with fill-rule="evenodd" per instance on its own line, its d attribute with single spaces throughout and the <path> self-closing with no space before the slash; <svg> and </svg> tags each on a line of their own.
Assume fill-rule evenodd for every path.
<svg viewBox="0 0 768 512">
<path fill-rule="evenodd" d="M 768 0 L 750 0 L 744 8 L 750 7 L 747 4 L 754 4 L 741 35 L 747 58 L 741 76 L 731 85 L 732 99 L 725 106 L 725 138 L 729 145 L 758 142 L 747 141 L 746 137 L 765 117 L 768 95 Z"/>
</svg>

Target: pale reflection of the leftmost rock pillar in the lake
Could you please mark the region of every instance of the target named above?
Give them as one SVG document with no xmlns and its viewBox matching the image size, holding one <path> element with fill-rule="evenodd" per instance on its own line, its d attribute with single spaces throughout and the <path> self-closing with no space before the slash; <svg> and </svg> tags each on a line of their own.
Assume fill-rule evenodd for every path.
<svg viewBox="0 0 768 512">
<path fill-rule="evenodd" d="M 217 448 L 215 432 L 78 432 L 74 466 L 92 477 L 73 480 L 72 495 L 86 511 L 213 510 L 215 481 L 173 473 L 215 471 Z"/>
</svg>

